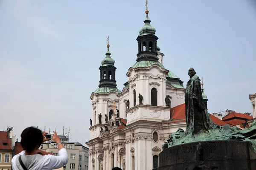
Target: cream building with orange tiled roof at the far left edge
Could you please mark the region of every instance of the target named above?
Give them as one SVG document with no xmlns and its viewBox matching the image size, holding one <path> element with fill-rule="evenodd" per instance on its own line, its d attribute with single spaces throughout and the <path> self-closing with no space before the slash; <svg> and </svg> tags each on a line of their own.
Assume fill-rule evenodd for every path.
<svg viewBox="0 0 256 170">
<path fill-rule="evenodd" d="M 15 142 L 15 136 L 12 136 L 12 127 L 7 131 L 0 131 L 0 170 L 11 170 L 13 146 Z"/>
</svg>

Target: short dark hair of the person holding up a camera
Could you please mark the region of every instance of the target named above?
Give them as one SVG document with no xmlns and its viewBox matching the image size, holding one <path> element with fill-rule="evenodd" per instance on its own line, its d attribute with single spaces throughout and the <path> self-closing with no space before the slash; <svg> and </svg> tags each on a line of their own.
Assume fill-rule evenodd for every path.
<svg viewBox="0 0 256 170">
<path fill-rule="evenodd" d="M 20 137 L 20 144 L 27 152 L 38 149 L 43 142 L 42 130 L 36 127 L 27 127 L 23 130 Z"/>
</svg>

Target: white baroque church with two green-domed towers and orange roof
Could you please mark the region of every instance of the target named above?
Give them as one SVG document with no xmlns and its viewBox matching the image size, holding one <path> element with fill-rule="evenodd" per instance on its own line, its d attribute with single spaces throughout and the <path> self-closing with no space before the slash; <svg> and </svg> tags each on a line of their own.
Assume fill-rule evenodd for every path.
<svg viewBox="0 0 256 170">
<path fill-rule="evenodd" d="M 86 142 L 89 170 L 151 170 L 158 167 L 158 155 L 169 134 L 186 129 L 186 88 L 164 67 L 156 29 L 150 24 L 147 9 L 145 13 L 137 37 L 137 58 L 128 69 L 128 82 L 122 91 L 116 88 L 115 60 L 109 44 L 99 67 L 99 88 L 90 96 L 90 140 Z M 202 93 L 207 107 L 207 96 Z M 226 124 L 210 117 L 218 125 Z"/>
</svg>

